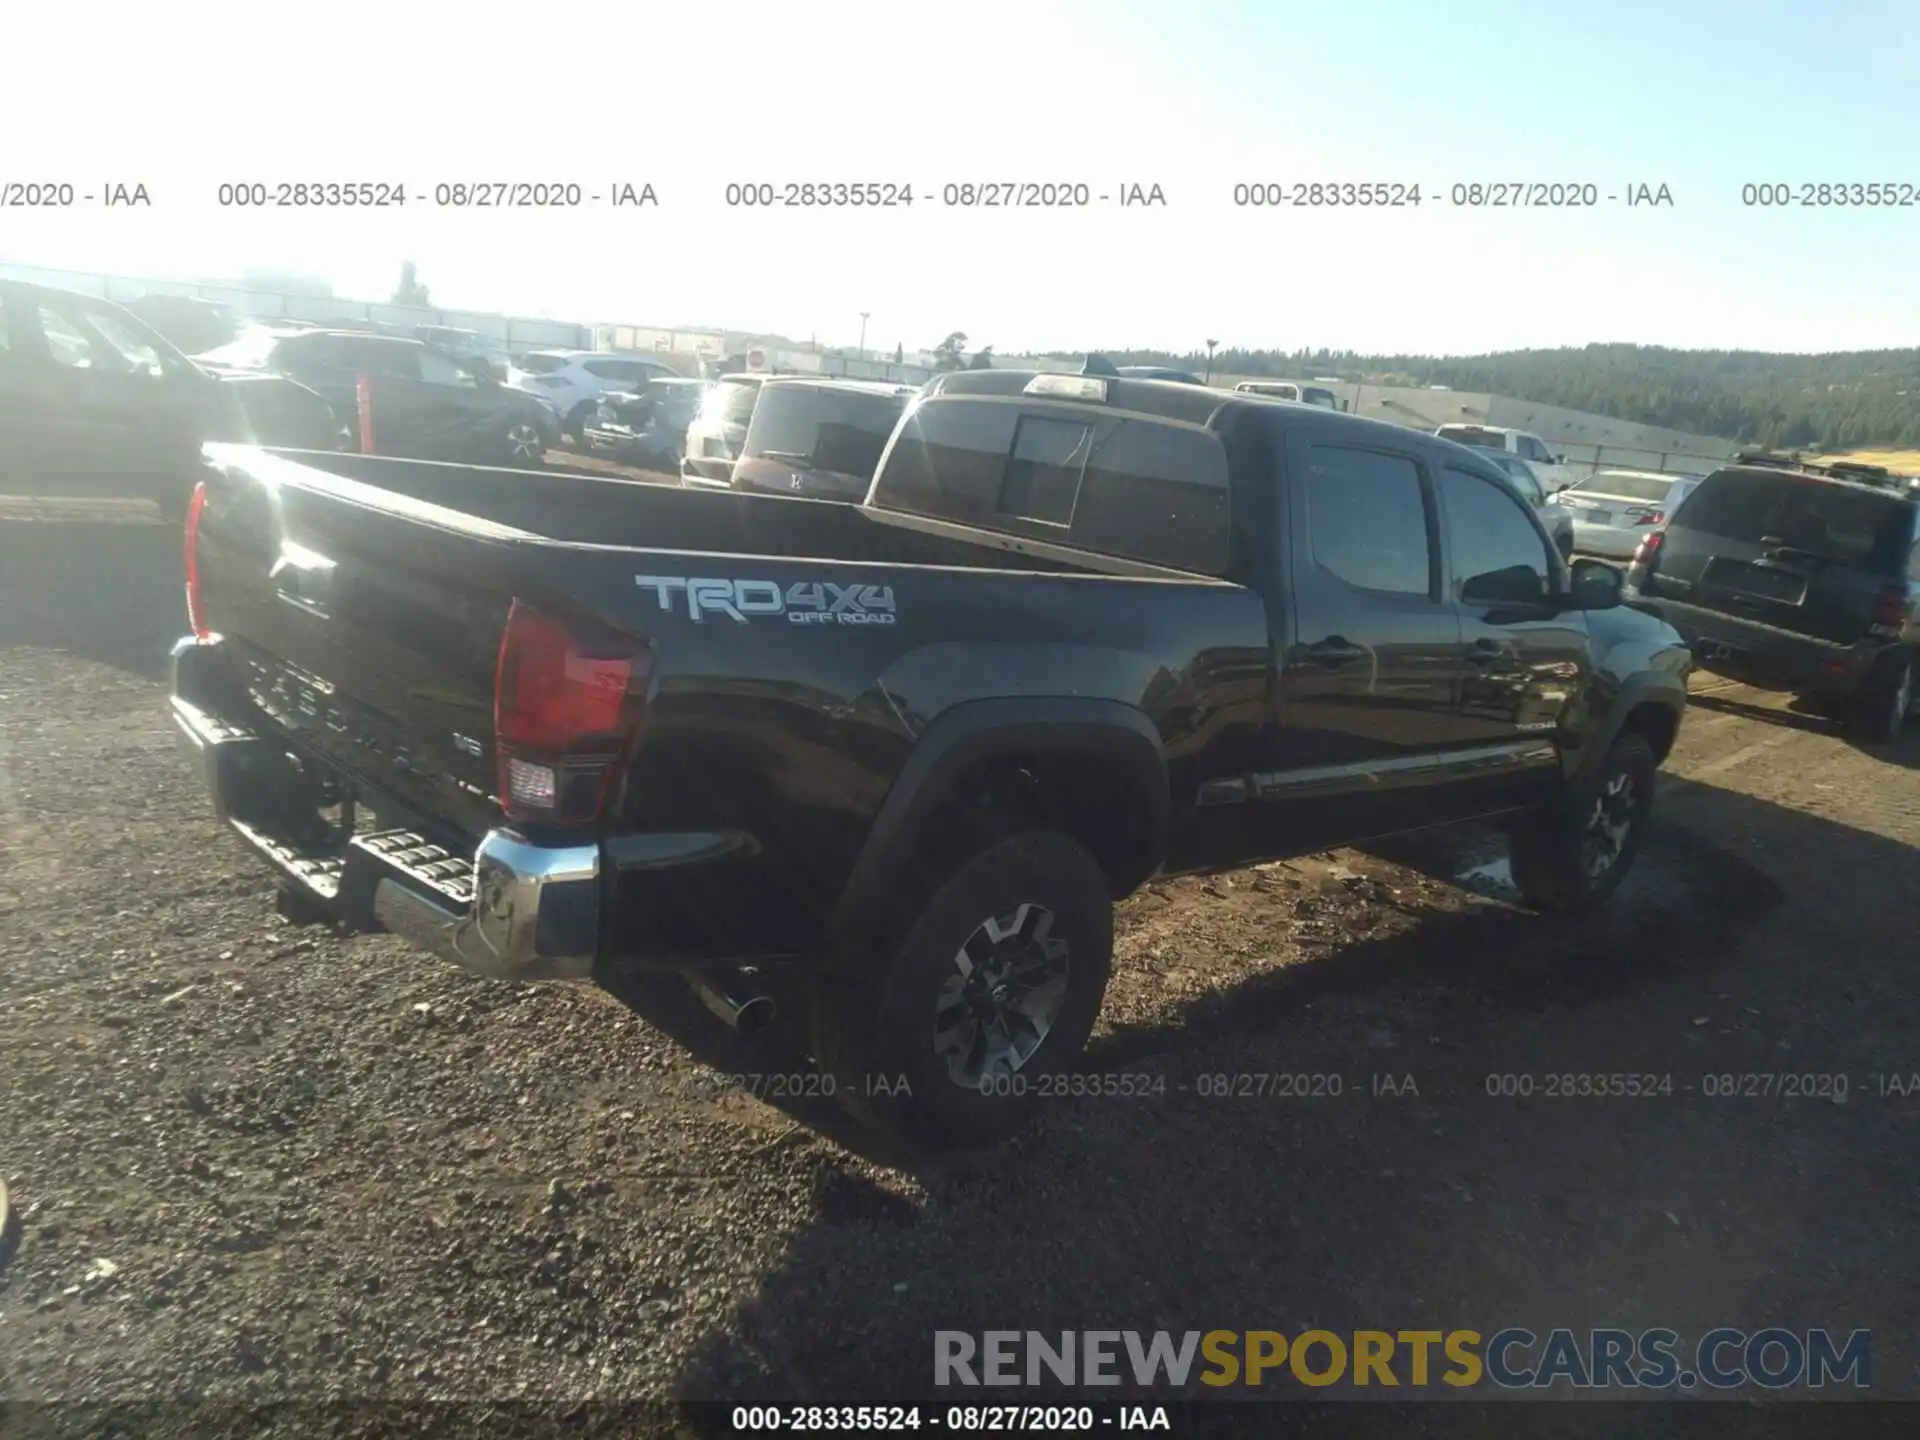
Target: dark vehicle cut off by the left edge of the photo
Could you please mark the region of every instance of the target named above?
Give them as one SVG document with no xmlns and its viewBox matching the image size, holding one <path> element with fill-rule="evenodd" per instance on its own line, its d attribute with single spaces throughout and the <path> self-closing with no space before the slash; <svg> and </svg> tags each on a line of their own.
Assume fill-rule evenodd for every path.
<svg viewBox="0 0 1920 1440">
<path fill-rule="evenodd" d="M 127 309 L 0 280 L 0 492 L 182 513 L 204 442 L 328 449 L 332 407 L 290 378 L 213 376 Z"/>
</svg>

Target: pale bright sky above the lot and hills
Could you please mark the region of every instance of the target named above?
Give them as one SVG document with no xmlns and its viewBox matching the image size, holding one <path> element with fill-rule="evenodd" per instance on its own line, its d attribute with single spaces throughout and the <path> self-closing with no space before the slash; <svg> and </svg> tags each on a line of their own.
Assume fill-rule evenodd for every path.
<svg viewBox="0 0 1920 1440">
<path fill-rule="evenodd" d="M 186 19 L 190 15 L 190 19 Z M 1910 0 L 728 0 L 586 10 L 330 0 L 10 15 L 8 182 L 148 207 L 0 205 L 0 261 L 319 275 L 384 300 L 876 349 L 1369 353 L 1640 342 L 1920 344 L 1920 6 Z M 401 184 L 388 209 L 253 209 L 221 184 Z M 578 207 L 436 205 L 457 182 Z M 730 184 L 881 182 L 893 209 L 755 209 Z M 1068 209 L 947 186 L 1087 184 Z M 1419 184 L 1394 209 L 1252 207 L 1236 184 Z M 614 209 L 588 196 L 636 194 Z M 1453 186 L 1592 184 L 1592 207 Z M 1907 207 L 1764 207 L 1884 182 Z M 1645 184 L 1670 205 L 1626 205 Z M 1127 186 L 1164 205 L 1121 207 Z M 1100 202 L 1098 196 L 1112 196 Z M 1620 200 L 1609 200 L 1620 196 Z"/>
</svg>

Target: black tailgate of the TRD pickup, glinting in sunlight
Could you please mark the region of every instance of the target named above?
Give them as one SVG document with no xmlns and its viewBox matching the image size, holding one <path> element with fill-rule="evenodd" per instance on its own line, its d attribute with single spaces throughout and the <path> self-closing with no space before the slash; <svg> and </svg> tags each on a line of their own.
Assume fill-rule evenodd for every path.
<svg viewBox="0 0 1920 1440">
<path fill-rule="evenodd" d="M 515 595 L 561 601 L 549 541 L 250 451 L 209 472 L 196 549 L 259 716 L 459 837 L 499 822 L 501 632 Z"/>
</svg>

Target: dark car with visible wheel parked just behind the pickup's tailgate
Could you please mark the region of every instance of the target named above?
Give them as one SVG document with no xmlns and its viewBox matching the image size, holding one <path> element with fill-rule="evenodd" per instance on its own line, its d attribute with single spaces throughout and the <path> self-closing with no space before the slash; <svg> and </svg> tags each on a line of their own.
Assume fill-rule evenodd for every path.
<svg viewBox="0 0 1920 1440">
<path fill-rule="evenodd" d="M 359 382 L 371 396 L 372 449 L 436 461 L 538 465 L 559 440 L 559 411 L 442 349 L 365 330 L 250 330 L 196 363 L 215 374 L 286 374 L 317 390 L 359 447 Z"/>
</svg>

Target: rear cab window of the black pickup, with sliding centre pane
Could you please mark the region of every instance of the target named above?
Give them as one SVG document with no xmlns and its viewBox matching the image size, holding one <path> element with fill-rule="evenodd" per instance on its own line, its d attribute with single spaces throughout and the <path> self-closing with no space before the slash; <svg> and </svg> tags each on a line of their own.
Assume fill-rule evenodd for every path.
<svg viewBox="0 0 1920 1440">
<path fill-rule="evenodd" d="M 1227 570 L 1219 436 L 1148 417 L 935 396 L 900 424 L 874 503 L 1175 570 Z"/>
</svg>

